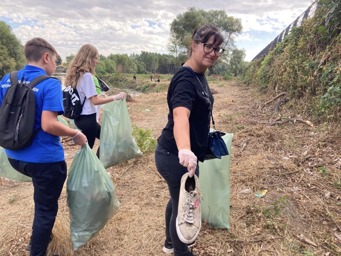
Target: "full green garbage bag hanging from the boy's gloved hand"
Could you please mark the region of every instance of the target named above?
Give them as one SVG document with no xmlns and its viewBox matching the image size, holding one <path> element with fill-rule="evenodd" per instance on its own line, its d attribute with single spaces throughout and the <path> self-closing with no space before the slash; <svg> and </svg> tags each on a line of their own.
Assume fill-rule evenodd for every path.
<svg viewBox="0 0 341 256">
<path fill-rule="evenodd" d="M 66 189 L 71 240 L 76 251 L 105 226 L 120 206 L 113 181 L 88 143 L 76 152 Z"/>
</svg>

